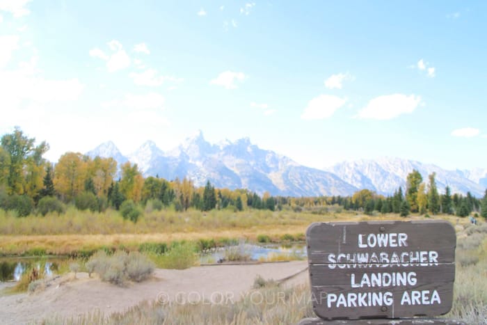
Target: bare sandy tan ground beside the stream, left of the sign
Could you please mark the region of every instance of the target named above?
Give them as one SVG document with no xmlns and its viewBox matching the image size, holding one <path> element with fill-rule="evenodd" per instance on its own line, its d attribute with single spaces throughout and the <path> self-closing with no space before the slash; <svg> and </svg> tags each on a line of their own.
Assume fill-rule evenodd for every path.
<svg viewBox="0 0 487 325">
<path fill-rule="evenodd" d="M 26 324 L 40 322 L 54 315 L 76 317 L 100 310 L 105 315 L 120 312 L 141 301 L 238 300 L 251 289 L 255 277 L 286 280 L 283 285 L 309 282 L 307 261 L 251 265 L 218 265 L 186 270 L 157 269 L 150 280 L 117 287 L 89 278 L 86 273 L 58 277 L 49 287 L 33 294 L 0 294 L 0 323 Z M 305 271 L 303 271 L 305 270 Z M 301 273 L 299 273 L 301 271 Z M 5 284 L 3 284 L 5 286 Z"/>
</svg>

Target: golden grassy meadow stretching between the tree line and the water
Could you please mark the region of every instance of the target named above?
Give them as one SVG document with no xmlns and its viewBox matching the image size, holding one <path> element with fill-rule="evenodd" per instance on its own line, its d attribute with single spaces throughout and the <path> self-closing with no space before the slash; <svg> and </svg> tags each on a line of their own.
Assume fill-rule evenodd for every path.
<svg viewBox="0 0 487 325">
<path fill-rule="evenodd" d="M 315 221 L 421 220 L 422 216 L 401 218 L 394 214 L 367 216 L 352 212 L 311 214 L 306 212 L 270 212 L 230 210 L 175 212 L 163 210 L 145 213 L 137 223 L 124 220 L 118 212 L 80 212 L 17 218 L 0 210 L 0 255 L 74 255 L 85 256 L 104 249 L 138 250 L 143 243 L 198 241 L 214 239 L 225 244 L 244 239 L 257 242 L 266 235 L 270 241 L 305 239 L 306 228 Z M 456 216 L 433 216 L 453 225 L 468 224 Z"/>
</svg>

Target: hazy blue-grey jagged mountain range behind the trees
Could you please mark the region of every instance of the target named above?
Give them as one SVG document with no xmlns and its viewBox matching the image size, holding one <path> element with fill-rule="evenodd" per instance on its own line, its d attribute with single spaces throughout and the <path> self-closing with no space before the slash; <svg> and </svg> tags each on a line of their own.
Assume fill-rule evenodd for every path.
<svg viewBox="0 0 487 325">
<path fill-rule="evenodd" d="M 350 196 L 359 189 L 370 189 L 390 195 L 406 187 L 408 173 L 416 169 L 428 181 L 436 173 L 440 193 L 448 185 L 452 193 L 484 196 L 487 168 L 470 171 L 447 171 L 431 164 L 399 158 L 344 161 L 326 170 L 302 166 L 289 157 L 263 150 L 249 138 L 211 144 L 202 132 L 168 152 L 147 141 L 135 152 L 123 155 L 109 141 L 86 153 L 90 157 L 112 157 L 121 166 L 127 161 L 137 164 L 145 177 L 159 176 L 166 180 L 188 177 L 195 186 L 209 180 L 216 188 L 268 191 L 273 196 Z"/>
</svg>

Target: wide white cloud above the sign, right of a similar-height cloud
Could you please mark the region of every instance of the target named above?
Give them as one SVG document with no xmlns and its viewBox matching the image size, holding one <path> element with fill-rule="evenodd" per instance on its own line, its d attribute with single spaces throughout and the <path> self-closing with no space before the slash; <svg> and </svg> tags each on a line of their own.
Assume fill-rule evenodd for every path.
<svg viewBox="0 0 487 325">
<path fill-rule="evenodd" d="M 390 120 L 405 113 L 413 113 L 421 103 L 416 95 L 393 94 L 375 97 L 360 112 L 359 118 Z"/>
</svg>

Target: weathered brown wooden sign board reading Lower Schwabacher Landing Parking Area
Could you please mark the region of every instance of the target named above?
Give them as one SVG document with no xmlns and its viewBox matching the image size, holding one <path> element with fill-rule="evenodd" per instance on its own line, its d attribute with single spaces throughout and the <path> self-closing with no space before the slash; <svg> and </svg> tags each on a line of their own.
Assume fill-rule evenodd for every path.
<svg viewBox="0 0 487 325">
<path fill-rule="evenodd" d="M 456 234 L 447 221 L 312 223 L 306 241 L 321 319 L 433 317 L 452 308 Z"/>
</svg>

